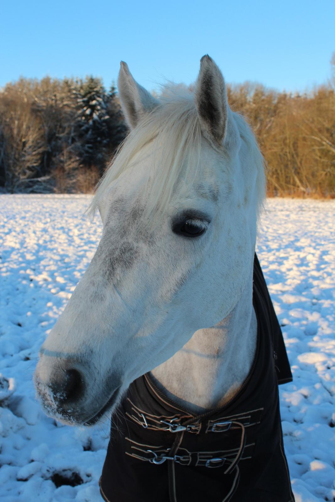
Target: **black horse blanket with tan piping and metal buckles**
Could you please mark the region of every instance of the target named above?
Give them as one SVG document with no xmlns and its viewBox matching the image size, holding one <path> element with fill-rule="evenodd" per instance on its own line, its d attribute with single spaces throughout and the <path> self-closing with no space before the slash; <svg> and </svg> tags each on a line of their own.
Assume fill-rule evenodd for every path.
<svg viewBox="0 0 335 502">
<path fill-rule="evenodd" d="M 113 416 L 100 478 L 108 502 L 293 502 L 278 384 L 292 381 L 281 329 L 257 259 L 257 349 L 242 388 L 195 415 L 150 373 L 135 380 Z"/>
</svg>

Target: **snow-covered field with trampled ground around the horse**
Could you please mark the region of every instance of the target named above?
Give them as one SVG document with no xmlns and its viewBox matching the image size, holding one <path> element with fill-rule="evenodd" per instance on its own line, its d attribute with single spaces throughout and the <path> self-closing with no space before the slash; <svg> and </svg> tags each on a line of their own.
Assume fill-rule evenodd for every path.
<svg viewBox="0 0 335 502">
<path fill-rule="evenodd" d="M 0 380 L 4 502 L 102 500 L 108 421 L 60 425 L 40 411 L 32 383 L 39 347 L 100 238 L 98 218 L 83 216 L 88 201 L 0 196 L 0 373 L 10 380 L 9 389 Z M 257 252 L 294 378 L 280 398 L 296 502 L 335 500 L 335 201 L 270 199 L 261 229 Z"/>
</svg>

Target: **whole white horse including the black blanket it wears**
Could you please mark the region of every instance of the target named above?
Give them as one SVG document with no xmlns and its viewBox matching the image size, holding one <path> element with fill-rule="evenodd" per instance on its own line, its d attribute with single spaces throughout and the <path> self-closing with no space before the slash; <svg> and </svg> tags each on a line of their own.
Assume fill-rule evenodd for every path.
<svg viewBox="0 0 335 502">
<path fill-rule="evenodd" d="M 291 372 L 254 269 L 256 140 L 209 56 L 194 92 L 156 100 L 125 63 L 119 91 L 130 134 L 91 203 L 96 253 L 41 347 L 44 410 L 72 425 L 122 411 L 105 500 L 293 502 L 277 388 Z"/>
</svg>

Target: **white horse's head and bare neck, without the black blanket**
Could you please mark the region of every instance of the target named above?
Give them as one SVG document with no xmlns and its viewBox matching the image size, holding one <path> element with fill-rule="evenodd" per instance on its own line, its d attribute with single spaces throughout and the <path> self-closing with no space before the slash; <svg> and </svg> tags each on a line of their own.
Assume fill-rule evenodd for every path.
<svg viewBox="0 0 335 502">
<path fill-rule="evenodd" d="M 45 411 L 70 424 L 113 410 L 147 371 L 176 402 L 217 407 L 255 355 L 265 174 L 254 135 L 209 56 L 194 92 L 157 100 L 123 62 L 119 91 L 130 134 L 91 204 L 102 238 L 35 373 Z"/>
</svg>

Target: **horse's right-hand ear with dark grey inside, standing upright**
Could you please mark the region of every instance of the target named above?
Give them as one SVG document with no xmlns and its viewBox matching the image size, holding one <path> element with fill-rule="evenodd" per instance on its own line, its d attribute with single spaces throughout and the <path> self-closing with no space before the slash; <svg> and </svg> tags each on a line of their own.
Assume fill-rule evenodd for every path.
<svg viewBox="0 0 335 502">
<path fill-rule="evenodd" d="M 200 60 L 200 71 L 195 84 L 195 105 L 203 134 L 221 145 L 227 131 L 227 90 L 221 71 L 208 54 Z"/>
</svg>

